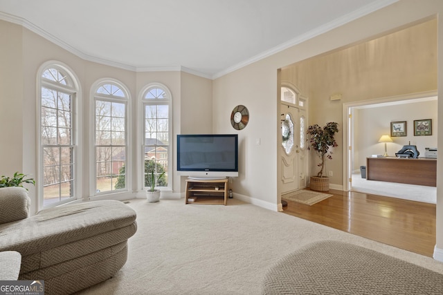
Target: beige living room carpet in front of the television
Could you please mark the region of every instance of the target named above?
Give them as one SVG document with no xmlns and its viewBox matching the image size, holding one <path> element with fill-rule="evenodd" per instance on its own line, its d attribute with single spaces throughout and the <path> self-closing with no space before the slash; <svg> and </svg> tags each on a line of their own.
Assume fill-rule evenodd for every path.
<svg viewBox="0 0 443 295">
<path fill-rule="evenodd" d="M 236 199 L 228 206 L 143 199 L 128 205 L 138 229 L 127 263 L 80 294 L 256 295 L 275 263 L 321 240 L 361 245 L 443 274 L 443 263 L 432 258 Z"/>
</svg>

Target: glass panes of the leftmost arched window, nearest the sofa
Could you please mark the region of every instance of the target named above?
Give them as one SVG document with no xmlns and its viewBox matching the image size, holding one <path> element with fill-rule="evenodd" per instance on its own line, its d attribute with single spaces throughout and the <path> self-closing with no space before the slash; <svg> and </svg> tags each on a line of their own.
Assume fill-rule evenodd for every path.
<svg viewBox="0 0 443 295">
<path fill-rule="evenodd" d="M 75 99 L 78 90 L 62 66 L 49 66 L 40 77 L 39 191 L 43 207 L 75 197 L 77 144 Z"/>
</svg>

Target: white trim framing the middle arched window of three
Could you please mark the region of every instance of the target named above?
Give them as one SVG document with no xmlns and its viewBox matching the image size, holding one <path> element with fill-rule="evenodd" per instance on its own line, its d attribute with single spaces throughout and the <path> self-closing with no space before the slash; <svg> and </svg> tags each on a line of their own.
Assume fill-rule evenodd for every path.
<svg viewBox="0 0 443 295">
<path fill-rule="evenodd" d="M 126 106 L 126 163 L 128 164 L 125 168 L 126 175 L 126 188 L 118 189 L 115 191 L 105 191 L 102 193 L 96 192 L 96 91 L 103 84 L 116 84 L 120 89 L 125 93 L 125 97 L 116 97 L 116 99 L 111 99 L 114 102 L 127 102 Z M 99 95 L 100 96 L 100 95 Z M 115 199 L 115 200 L 124 200 L 129 196 L 129 192 L 132 191 L 132 171 L 133 167 L 130 165 L 132 162 L 132 104 L 131 104 L 131 95 L 129 92 L 129 88 L 125 86 L 118 79 L 113 78 L 102 78 L 98 79 L 91 85 L 90 93 L 89 93 L 89 124 L 91 128 L 89 129 L 89 198 L 91 200 L 105 200 L 105 199 Z M 109 96 L 103 95 L 105 100 L 108 100 Z"/>
</svg>

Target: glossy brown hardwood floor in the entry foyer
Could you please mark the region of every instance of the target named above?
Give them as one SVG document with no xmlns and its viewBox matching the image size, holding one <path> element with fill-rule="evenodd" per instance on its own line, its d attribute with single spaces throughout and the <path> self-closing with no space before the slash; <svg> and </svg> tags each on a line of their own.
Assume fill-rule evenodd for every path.
<svg viewBox="0 0 443 295">
<path fill-rule="evenodd" d="M 424 256 L 433 256 L 435 204 L 346 191 L 311 206 L 287 201 L 284 213 Z M 283 199 L 284 200 L 284 199 Z"/>
</svg>

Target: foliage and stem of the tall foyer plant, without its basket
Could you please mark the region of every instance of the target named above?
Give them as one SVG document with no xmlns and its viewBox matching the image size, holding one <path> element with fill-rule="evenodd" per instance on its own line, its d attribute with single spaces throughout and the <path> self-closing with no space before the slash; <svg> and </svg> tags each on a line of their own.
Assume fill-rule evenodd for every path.
<svg viewBox="0 0 443 295">
<path fill-rule="evenodd" d="M 328 158 L 332 159 L 332 151 L 330 148 L 338 146 L 336 140 L 334 139 L 335 133 L 338 132 L 338 123 L 329 122 L 323 128 L 318 126 L 318 124 L 311 125 L 307 128 L 307 141 L 310 146 L 308 149 L 314 149 L 318 157 L 320 157 L 320 171 L 317 173 L 317 177 L 323 177 L 325 172 L 325 160 Z"/>
</svg>

